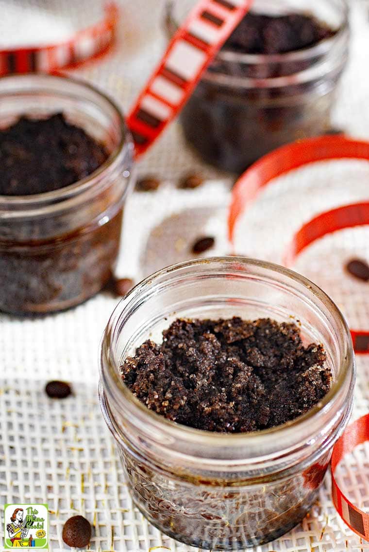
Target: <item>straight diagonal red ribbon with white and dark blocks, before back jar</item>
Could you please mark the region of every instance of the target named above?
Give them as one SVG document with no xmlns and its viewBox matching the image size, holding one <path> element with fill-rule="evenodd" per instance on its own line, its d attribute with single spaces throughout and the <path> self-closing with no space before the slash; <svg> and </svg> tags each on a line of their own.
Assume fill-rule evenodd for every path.
<svg viewBox="0 0 369 552">
<path fill-rule="evenodd" d="M 196 4 L 128 114 L 136 156 L 142 155 L 180 113 L 202 73 L 251 4 L 252 0 L 200 0 Z"/>
</svg>

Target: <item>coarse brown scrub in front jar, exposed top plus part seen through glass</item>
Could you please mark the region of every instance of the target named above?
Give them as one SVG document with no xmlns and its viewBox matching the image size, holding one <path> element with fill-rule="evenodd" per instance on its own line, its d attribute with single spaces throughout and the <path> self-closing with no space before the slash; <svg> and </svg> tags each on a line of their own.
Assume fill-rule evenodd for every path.
<svg viewBox="0 0 369 552">
<path fill-rule="evenodd" d="M 304 346 L 295 323 L 177 319 L 162 336 L 161 344 L 146 341 L 126 358 L 121 376 L 151 411 L 185 426 L 219 434 L 274 428 L 310 411 L 332 385 L 322 344 Z M 173 488 L 130 455 L 124 461 L 133 500 L 142 505 L 144 499 L 152 523 L 188 544 L 231 549 L 267 542 L 299 522 L 316 497 L 329 453 L 287 480 L 256 479 L 263 492 L 245 487 L 237 473 L 224 480 L 210 472 L 190 477 L 196 492 L 185 481 Z"/>
</svg>

